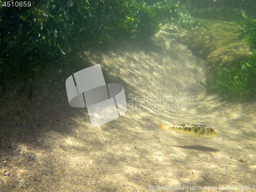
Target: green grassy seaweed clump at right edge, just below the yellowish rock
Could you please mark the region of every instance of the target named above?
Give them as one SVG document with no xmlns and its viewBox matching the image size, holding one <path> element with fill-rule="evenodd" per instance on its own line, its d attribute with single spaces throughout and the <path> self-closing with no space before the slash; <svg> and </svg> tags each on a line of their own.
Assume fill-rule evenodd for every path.
<svg viewBox="0 0 256 192">
<path fill-rule="evenodd" d="M 256 50 L 248 59 L 242 60 L 238 65 L 227 68 L 214 65 L 212 76 L 207 79 L 206 86 L 217 95 L 229 101 L 254 100 L 256 95 Z"/>
</svg>

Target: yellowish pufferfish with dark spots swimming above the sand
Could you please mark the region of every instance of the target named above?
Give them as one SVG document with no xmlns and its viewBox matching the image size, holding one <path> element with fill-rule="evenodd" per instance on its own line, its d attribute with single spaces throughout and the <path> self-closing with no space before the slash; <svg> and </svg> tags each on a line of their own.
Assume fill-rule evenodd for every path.
<svg viewBox="0 0 256 192">
<path fill-rule="evenodd" d="M 201 124 L 184 124 L 171 126 L 160 123 L 159 130 L 173 130 L 187 137 L 211 139 L 217 136 L 215 129 Z"/>
</svg>

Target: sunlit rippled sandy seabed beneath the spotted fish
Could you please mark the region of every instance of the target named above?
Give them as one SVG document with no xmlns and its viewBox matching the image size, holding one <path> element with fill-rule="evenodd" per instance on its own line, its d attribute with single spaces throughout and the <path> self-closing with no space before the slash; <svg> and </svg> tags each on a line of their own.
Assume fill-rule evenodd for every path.
<svg viewBox="0 0 256 192">
<path fill-rule="evenodd" d="M 22 82 L 7 84 L 0 98 L 0 191 L 255 187 L 255 102 L 208 94 L 200 84 L 205 62 L 172 33 L 162 28 L 143 45 L 124 41 L 77 56 L 83 61 L 51 67 L 33 80 L 30 100 L 18 91 Z M 86 108 L 69 105 L 65 81 L 98 64 L 106 83 L 122 84 L 128 105 L 123 116 L 93 127 Z M 211 126 L 218 136 L 194 139 L 158 130 L 160 122 L 178 119 Z"/>
</svg>

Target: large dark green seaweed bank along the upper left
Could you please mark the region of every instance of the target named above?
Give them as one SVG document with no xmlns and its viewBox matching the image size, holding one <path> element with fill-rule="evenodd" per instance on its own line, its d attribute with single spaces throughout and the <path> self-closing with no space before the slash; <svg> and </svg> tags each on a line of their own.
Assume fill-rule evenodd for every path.
<svg viewBox="0 0 256 192">
<path fill-rule="evenodd" d="M 4 14 L 4 7 L 0 12 L 1 78 L 15 74 L 30 78 L 38 66 L 78 49 L 143 40 L 157 33 L 161 22 L 175 21 L 187 29 L 196 26 L 183 5 L 168 0 L 153 5 L 132 0 L 48 0 L 12 16 Z"/>
</svg>

